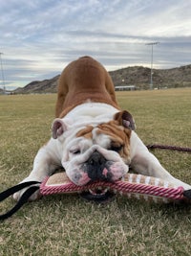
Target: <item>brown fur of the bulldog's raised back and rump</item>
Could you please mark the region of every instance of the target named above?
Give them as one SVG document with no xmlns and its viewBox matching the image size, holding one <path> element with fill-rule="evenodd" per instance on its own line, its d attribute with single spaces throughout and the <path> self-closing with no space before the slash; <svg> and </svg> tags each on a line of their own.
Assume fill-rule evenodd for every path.
<svg viewBox="0 0 191 256">
<path fill-rule="evenodd" d="M 96 59 L 82 57 L 71 62 L 59 78 L 55 117 L 64 117 L 87 100 L 119 109 L 109 73 Z"/>
</svg>

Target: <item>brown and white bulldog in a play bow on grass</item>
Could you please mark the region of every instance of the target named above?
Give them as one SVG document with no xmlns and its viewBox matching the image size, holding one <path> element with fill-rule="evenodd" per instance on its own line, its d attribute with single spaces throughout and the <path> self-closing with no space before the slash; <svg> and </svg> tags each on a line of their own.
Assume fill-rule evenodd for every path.
<svg viewBox="0 0 191 256">
<path fill-rule="evenodd" d="M 138 174 L 191 189 L 170 175 L 138 138 L 134 118 L 120 109 L 111 77 L 94 58 L 78 58 L 62 72 L 55 117 L 52 138 L 37 152 L 32 172 L 22 182 L 41 182 L 60 167 L 79 186 L 96 180 L 115 182 L 131 166 Z M 39 197 L 37 191 L 30 199 Z"/>
</svg>

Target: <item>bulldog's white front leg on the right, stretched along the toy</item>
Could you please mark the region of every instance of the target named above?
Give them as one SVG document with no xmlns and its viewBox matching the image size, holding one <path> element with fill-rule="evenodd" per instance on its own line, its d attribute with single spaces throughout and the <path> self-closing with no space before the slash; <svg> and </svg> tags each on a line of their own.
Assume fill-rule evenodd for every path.
<svg viewBox="0 0 191 256">
<path fill-rule="evenodd" d="M 157 157 L 148 151 L 146 146 L 138 138 L 136 132 L 131 136 L 131 166 L 140 175 L 159 177 L 163 180 L 191 189 L 191 186 L 170 175 L 159 163 Z"/>
</svg>

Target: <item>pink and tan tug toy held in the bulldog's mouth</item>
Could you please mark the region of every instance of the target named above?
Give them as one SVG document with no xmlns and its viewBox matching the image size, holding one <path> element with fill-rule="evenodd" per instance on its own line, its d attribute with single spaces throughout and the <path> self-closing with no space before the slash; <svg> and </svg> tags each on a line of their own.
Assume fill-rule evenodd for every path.
<svg viewBox="0 0 191 256">
<path fill-rule="evenodd" d="M 47 177 L 40 185 L 40 193 L 43 196 L 53 194 L 72 194 L 82 192 L 96 193 L 97 191 L 110 191 L 114 194 L 127 196 L 128 198 L 143 198 L 155 202 L 170 202 L 187 200 L 183 196 L 183 187 L 175 187 L 165 180 L 145 176 L 127 174 L 124 180 L 116 182 L 96 181 L 85 186 L 75 185 L 65 173 L 58 173 Z"/>
</svg>

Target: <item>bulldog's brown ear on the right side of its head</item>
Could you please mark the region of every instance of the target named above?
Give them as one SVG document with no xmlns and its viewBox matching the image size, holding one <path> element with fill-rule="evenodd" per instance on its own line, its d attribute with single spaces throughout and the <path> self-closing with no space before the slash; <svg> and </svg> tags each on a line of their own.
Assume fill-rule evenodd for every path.
<svg viewBox="0 0 191 256">
<path fill-rule="evenodd" d="M 114 116 L 114 119 L 117 120 L 120 126 L 124 128 L 130 128 L 132 130 L 136 129 L 136 124 L 133 116 L 126 110 L 117 112 Z"/>
</svg>

